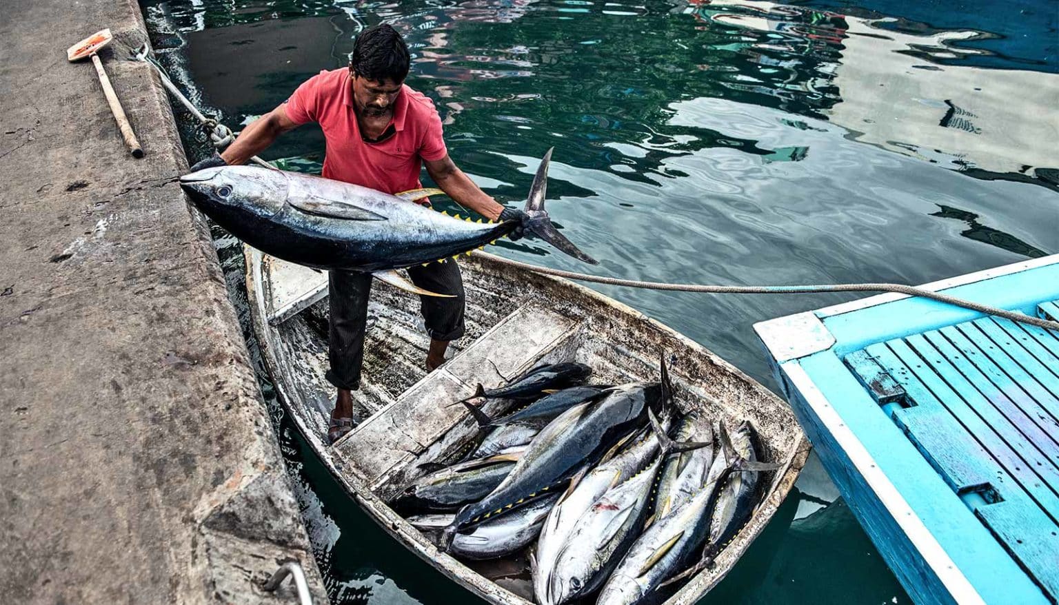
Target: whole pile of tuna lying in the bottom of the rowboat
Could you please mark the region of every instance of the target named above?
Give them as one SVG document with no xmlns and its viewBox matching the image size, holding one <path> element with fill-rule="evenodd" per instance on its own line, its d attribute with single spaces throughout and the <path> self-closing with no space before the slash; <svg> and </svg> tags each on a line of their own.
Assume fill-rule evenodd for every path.
<svg viewBox="0 0 1059 605">
<path fill-rule="evenodd" d="M 576 363 L 538 366 L 473 400 L 527 402 L 480 425 L 471 448 L 392 503 L 457 557 L 515 555 L 527 547 L 542 605 L 574 600 L 628 605 L 717 556 L 759 500 L 753 427 L 731 434 L 681 416 L 665 362 L 660 382 L 579 386 Z M 543 396 L 543 397 L 542 397 Z"/>
</svg>

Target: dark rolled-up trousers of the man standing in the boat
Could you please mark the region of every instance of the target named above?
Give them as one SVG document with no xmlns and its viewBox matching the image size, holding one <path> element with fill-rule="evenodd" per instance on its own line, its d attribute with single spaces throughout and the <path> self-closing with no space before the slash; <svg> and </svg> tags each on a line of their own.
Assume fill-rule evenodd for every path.
<svg viewBox="0 0 1059 605">
<path fill-rule="evenodd" d="M 460 267 L 453 260 L 409 268 L 412 282 L 453 298 L 420 296 L 419 312 L 427 334 L 434 341 L 455 341 L 464 334 L 464 290 Z M 372 275 L 356 271 L 331 271 L 327 294 L 330 304 L 327 381 L 338 388 L 360 388 L 360 366 L 364 360 L 367 329 L 367 298 Z"/>
</svg>

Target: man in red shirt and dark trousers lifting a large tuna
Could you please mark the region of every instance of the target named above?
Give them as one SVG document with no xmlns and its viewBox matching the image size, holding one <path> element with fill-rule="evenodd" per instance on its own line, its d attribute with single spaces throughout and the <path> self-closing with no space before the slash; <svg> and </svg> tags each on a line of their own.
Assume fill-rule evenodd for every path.
<svg viewBox="0 0 1059 605">
<path fill-rule="evenodd" d="M 348 69 L 321 71 L 309 78 L 290 98 L 247 126 L 223 153 L 202 160 L 192 171 L 243 164 L 280 134 L 315 122 L 326 142 L 325 178 L 398 194 L 423 187 L 419 170 L 426 165 L 430 178 L 459 204 L 492 220 L 518 221 L 509 237 L 519 239 L 530 217 L 497 203 L 452 162 L 433 102 L 403 84 L 409 65 L 400 34 L 388 24 L 369 28 L 354 42 Z M 430 205 L 426 198 L 415 203 Z M 453 296 L 421 296 L 430 336 L 426 366 L 433 371 L 445 363 L 449 343 L 464 334 L 460 268 L 449 260 L 409 268 L 408 274 L 424 290 Z M 352 391 L 360 388 L 371 288 L 369 273 L 331 271 L 328 277 L 327 380 L 338 389 L 327 428 L 330 443 L 354 426 Z"/>
</svg>

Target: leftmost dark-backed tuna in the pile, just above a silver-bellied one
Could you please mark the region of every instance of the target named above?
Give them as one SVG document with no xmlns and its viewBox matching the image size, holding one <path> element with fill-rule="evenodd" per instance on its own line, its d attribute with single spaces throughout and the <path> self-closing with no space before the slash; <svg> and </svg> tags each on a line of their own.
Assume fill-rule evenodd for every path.
<svg viewBox="0 0 1059 605">
<path fill-rule="evenodd" d="M 399 511 L 454 511 L 491 493 L 515 468 L 524 448 L 460 462 L 425 475 L 393 502 Z"/>
</svg>

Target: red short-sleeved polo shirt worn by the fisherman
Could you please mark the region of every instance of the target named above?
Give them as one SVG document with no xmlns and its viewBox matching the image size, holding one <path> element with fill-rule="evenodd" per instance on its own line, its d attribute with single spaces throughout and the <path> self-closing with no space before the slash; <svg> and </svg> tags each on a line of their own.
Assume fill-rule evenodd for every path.
<svg viewBox="0 0 1059 605">
<path fill-rule="evenodd" d="M 423 160 L 441 160 L 448 153 L 434 103 L 407 86 L 394 102 L 394 134 L 379 143 L 364 141 L 345 68 L 322 71 L 298 87 L 287 99 L 287 116 L 295 124 L 316 122 L 323 128 L 324 177 L 388 194 L 421 187 Z"/>
</svg>

